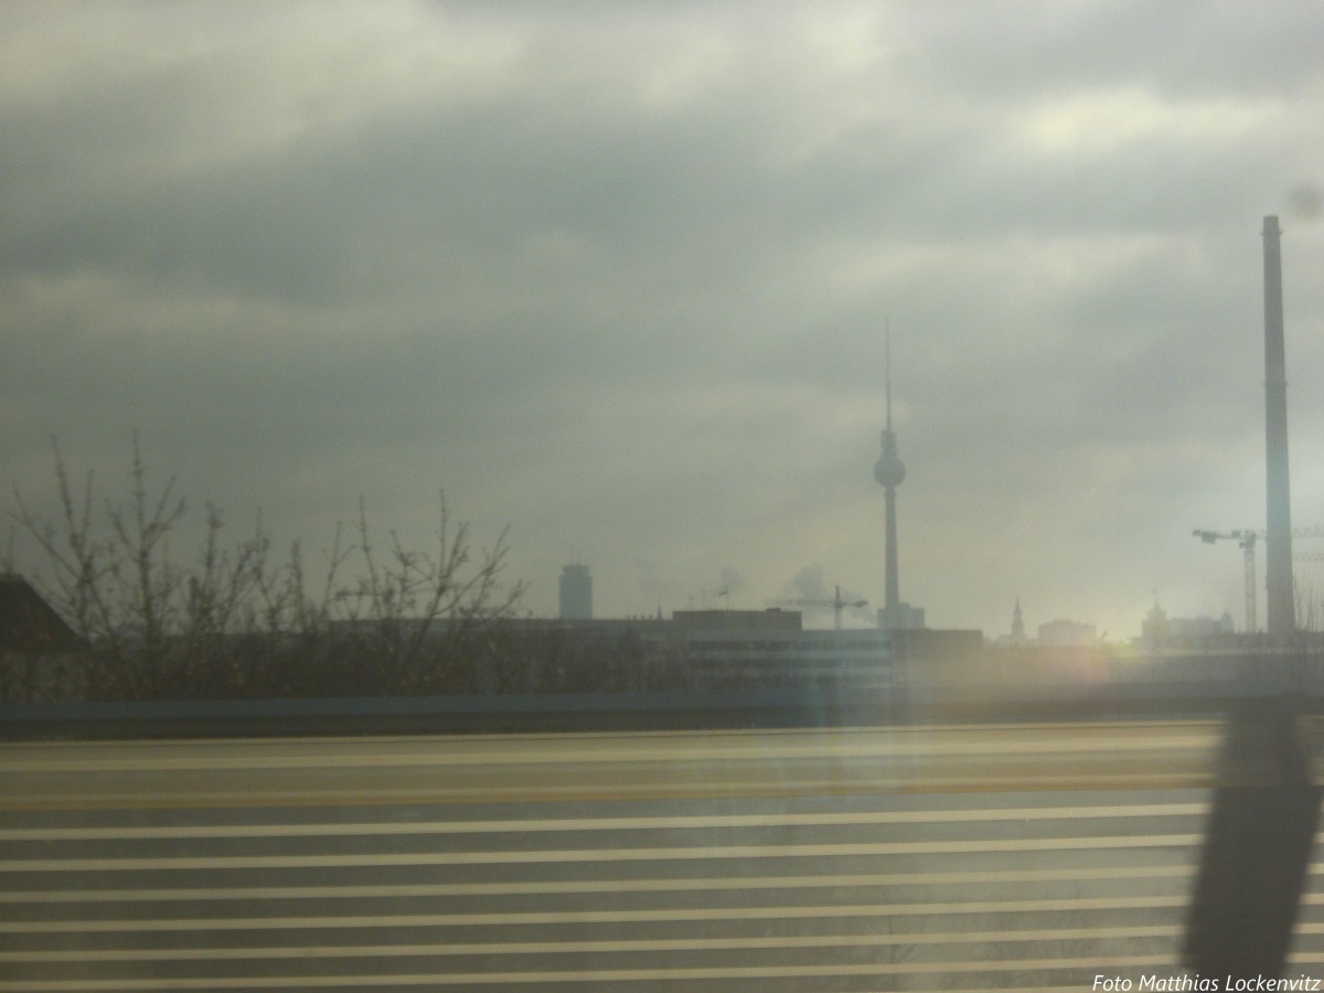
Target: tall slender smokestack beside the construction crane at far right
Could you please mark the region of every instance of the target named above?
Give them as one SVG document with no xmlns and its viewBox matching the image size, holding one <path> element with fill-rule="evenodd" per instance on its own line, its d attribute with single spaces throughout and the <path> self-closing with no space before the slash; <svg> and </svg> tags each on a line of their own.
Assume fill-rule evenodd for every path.
<svg viewBox="0 0 1324 993">
<path fill-rule="evenodd" d="M 1278 217 L 1264 218 L 1264 479 L 1270 637 L 1296 628 L 1292 594 L 1292 507 L 1287 471 L 1287 357 L 1283 347 L 1283 254 Z"/>
</svg>

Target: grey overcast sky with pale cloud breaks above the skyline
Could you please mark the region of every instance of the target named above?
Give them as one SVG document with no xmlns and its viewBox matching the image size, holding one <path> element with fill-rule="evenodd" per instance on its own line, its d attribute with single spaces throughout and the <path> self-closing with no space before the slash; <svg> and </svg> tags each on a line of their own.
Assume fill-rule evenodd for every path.
<svg viewBox="0 0 1324 993">
<path fill-rule="evenodd" d="M 1264 214 L 1324 526 L 1321 38 L 1230 0 L 5 3 L 0 466 L 45 499 L 57 437 L 120 494 L 136 430 L 310 551 L 360 495 L 426 545 L 444 489 L 535 614 L 572 561 L 608 617 L 878 605 L 890 320 L 932 626 L 1241 626 L 1190 532 L 1263 527 Z"/>
</svg>

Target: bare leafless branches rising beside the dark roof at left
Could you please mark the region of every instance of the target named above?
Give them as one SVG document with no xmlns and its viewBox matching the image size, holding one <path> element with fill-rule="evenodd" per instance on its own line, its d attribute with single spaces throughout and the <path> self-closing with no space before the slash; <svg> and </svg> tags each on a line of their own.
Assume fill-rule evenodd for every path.
<svg viewBox="0 0 1324 993">
<path fill-rule="evenodd" d="M 175 557 L 187 504 L 159 489 L 132 445 L 130 494 L 98 511 L 93 477 L 74 486 L 54 448 L 58 510 L 15 491 L 11 519 L 37 547 L 34 583 L 90 646 L 87 692 L 109 699 L 414 694 L 467 688 L 475 646 L 508 618 L 524 585 L 506 583 L 506 535 L 474 549 L 440 499 L 437 545 L 380 552 L 359 502 L 310 577 L 303 549 L 271 553 L 261 516 L 226 544 L 207 504 L 188 564 Z M 9 555 L 12 559 L 12 552 Z"/>
</svg>

